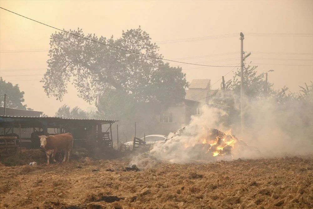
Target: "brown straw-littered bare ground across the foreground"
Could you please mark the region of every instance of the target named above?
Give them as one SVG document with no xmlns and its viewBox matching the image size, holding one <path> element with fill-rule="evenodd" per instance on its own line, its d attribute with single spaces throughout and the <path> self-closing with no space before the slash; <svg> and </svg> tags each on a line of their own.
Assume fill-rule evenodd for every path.
<svg viewBox="0 0 313 209">
<path fill-rule="evenodd" d="M 170 164 L 131 158 L 0 167 L 1 208 L 312 208 L 312 156 Z"/>
</svg>

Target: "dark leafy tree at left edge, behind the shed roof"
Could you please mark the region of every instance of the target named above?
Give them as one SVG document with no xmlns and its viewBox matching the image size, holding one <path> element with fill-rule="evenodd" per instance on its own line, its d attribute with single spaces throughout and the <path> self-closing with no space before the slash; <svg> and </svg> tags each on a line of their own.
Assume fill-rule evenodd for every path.
<svg viewBox="0 0 313 209">
<path fill-rule="evenodd" d="M 26 110 L 27 105 L 23 104 L 24 91 L 20 91 L 18 84 L 14 85 L 11 82 L 6 82 L 0 77 L 0 104 L 4 107 L 4 94 L 6 97 L 6 107 Z M 27 108 L 32 110 L 31 108 Z"/>
</svg>

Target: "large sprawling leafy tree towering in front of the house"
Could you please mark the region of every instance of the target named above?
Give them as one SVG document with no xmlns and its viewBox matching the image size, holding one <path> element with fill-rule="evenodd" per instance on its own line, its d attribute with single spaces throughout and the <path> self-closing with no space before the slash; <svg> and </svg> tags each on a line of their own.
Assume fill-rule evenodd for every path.
<svg viewBox="0 0 313 209">
<path fill-rule="evenodd" d="M 182 68 L 156 59 L 162 58 L 159 47 L 140 26 L 123 31 L 118 39 L 85 35 L 82 29 L 69 32 L 135 53 L 64 32 L 52 34 L 48 69 L 41 81 L 49 97 L 62 100 L 72 79 L 79 96 L 98 108 L 93 117 L 119 119 L 120 130 L 131 134 L 135 121 L 148 124 L 142 129 L 149 130 L 156 124 L 153 115 L 185 97 L 188 84 Z"/>
</svg>

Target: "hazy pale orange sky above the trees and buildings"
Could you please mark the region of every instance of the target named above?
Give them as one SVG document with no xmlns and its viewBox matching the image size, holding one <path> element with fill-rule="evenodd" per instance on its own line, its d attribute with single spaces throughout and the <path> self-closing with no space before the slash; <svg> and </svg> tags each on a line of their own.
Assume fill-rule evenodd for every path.
<svg viewBox="0 0 313 209">
<path fill-rule="evenodd" d="M 298 91 L 299 85 L 313 81 L 313 37 L 291 35 L 313 33 L 313 1 L 1 0 L 0 6 L 60 29 L 79 27 L 85 34 L 97 36 L 118 38 L 122 30 L 140 25 L 158 43 L 166 59 L 207 65 L 239 64 L 239 33 L 243 32 L 244 51 L 252 53 L 247 61 L 259 65 L 259 73 L 275 70 L 268 76 L 275 88 L 286 85 L 291 91 Z M 69 93 L 59 102 L 54 97 L 48 98 L 39 83 L 47 67 L 49 38 L 54 32 L 55 29 L 0 9 L 1 76 L 19 84 L 21 91 L 25 91 L 28 107 L 49 116 L 63 104 L 82 109 L 90 106 L 77 97 L 73 86 L 69 86 Z M 273 36 L 274 33 L 283 35 Z M 221 38 L 225 34 L 235 35 Z M 196 39 L 199 37 L 206 38 Z M 187 81 L 209 78 L 211 84 L 232 70 L 180 66 Z M 232 76 L 229 73 L 225 80 Z M 220 81 L 212 88 L 219 85 Z"/>
</svg>

